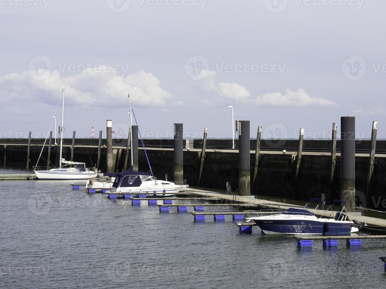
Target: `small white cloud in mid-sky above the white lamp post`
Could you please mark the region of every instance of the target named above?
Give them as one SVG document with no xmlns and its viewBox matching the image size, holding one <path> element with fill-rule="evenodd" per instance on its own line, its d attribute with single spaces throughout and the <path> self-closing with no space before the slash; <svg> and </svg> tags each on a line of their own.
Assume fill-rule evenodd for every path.
<svg viewBox="0 0 386 289">
<path fill-rule="evenodd" d="M 249 99 L 251 94 L 244 86 L 237 83 L 229 83 L 229 82 L 215 82 L 215 77 L 217 76 L 217 72 L 215 71 L 201 71 L 201 74 L 207 75 L 202 80 L 202 88 L 205 91 L 216 92 L 219 96 L 233 100 L 233 101 L 241 101 L 245 102 Z M 197 79 L 201 79 L 201 74 L 197 76 Z"/>
</svg>

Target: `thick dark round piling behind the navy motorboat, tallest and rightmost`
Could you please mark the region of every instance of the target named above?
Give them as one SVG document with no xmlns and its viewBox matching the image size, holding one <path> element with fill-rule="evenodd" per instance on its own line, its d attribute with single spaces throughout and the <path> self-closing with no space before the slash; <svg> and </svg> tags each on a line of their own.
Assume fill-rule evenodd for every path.
<svg viewBox="0 0 386 289">
<path fill-rule="evenodd" d="M 355 117 L 342 116 L 340 127 L 340 198 L 355 212 Z"/>
</svg>

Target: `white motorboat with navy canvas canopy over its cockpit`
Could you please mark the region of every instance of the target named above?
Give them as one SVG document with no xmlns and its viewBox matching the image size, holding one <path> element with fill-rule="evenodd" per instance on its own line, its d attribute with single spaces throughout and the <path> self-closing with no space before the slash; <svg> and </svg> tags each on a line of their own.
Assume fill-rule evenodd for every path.
<svg viewBox="0 0 386 289">
<path fill-rule="evenodd" d="M 152 174 L 134 171 L 130 168 L 124 173 L 118 173 L 108 194 L 130 194 L 138 197 L 146 194 L 150 197 L 174 197 L 184 188 L 188 188 L 186 181 L 181 184 L 170 181 L 157 180 Z"/>
</svg>

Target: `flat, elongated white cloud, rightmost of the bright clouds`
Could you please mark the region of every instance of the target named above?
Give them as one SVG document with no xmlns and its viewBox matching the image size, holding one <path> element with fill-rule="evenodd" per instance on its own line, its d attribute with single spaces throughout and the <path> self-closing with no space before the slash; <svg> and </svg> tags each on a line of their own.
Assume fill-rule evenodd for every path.
<svg viewBox="0 0 386 289">
<path fill-rule="evenodd" d="M 337 106 L 333 101 L 327 99 L 310 97 L 304 89 L 291 91 L 286 89 L 286 94 L 272 92 L 257 96 L 256 104 L 260 106 Z"/>
</svg>

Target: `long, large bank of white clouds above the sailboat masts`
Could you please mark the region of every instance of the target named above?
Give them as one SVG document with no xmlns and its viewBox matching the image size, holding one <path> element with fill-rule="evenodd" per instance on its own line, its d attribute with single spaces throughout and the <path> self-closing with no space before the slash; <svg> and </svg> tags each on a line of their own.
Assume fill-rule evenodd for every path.
<svg viewBox="0 0 386 289">
<path fill-rule="evenodd" d="M 87 68 L 67 77 L 53 71 L 44 80 L 35 80 L 31 77 L 34 73 L 24 71 L 0 77 L 0 100 L 57 104 L 64 87 L 72 105 L 115 108 L 125 104 L 130 94 L 135 105 L 164 107 L 173 97 L 160 86 L 156 76 L 143 70 L 125 77 L 100 67 Z M 48 71 L 44 73 L 49 74 Z"/>
</svg>

